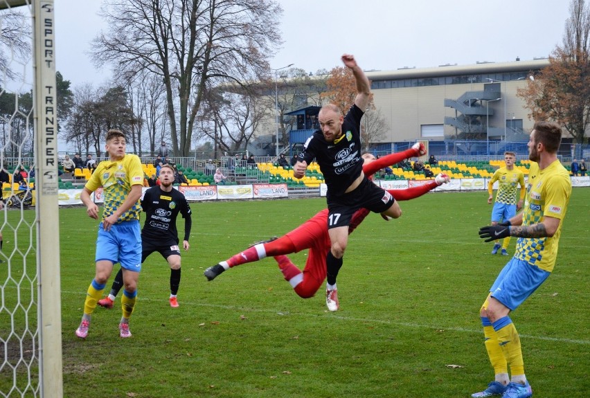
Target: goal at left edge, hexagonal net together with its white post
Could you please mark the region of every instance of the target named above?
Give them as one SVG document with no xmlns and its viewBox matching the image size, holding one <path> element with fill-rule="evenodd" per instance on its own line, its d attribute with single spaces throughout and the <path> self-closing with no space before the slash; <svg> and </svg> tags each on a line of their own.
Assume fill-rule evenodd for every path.
<svg viewBox="0 0 590 398">
<path fill-rule="evenodd" d="M 53 0 L 0 0 L 0 397 L 62 397 Z"/>
</svg>

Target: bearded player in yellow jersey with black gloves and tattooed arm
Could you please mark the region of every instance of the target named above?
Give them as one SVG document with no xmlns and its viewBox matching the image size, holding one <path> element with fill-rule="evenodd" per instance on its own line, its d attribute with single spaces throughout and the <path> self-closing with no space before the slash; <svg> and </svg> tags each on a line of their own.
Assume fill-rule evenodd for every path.
<svg viewBox="0 0 590 398">
<path fill-rule="evenodd" d="M 524 375 L 517 329 L 510 319 L 514 311 L 551 275 L 557 246 L 571 195 L 568 171 L 557 160 L 562 130 L 559 125 L 537 122 L 528 141 L 530 165 L 523 211 L 497 226 L 480 228 L 485 242 L 518 237 L 512 260 L 492 284 L 480 316 L 485 348 L 496 374 L 495 380 L 474 398 L 502 395 L 528 398 L 533 390 Z M 512 376 L 508 379 L 508 367 Z"/>
</svg>

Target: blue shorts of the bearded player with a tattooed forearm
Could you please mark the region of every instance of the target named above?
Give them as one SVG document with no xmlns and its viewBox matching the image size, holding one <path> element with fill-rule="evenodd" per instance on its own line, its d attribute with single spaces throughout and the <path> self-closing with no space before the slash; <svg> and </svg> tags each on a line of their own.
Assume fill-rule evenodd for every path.
<svg viewBox="0 0 590 398">
<path fill-rule="evenodd" d="M 551 272 L 512 257 L 492 284 L 492 297 L 514 311 L 533 291 L 551 275 Z"/>
</svg>

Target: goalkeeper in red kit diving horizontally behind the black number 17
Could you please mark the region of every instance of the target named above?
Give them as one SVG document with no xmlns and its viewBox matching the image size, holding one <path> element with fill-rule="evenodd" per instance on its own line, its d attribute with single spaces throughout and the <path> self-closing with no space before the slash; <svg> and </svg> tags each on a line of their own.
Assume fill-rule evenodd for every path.
<svg viewBox="0 0 590 398">
<path fill-rule="evenodd" d="M 367 176 L 371 176 L 381 170 L 382 168 L 399 163 L 402 159 L 412 156 L 420 156 L 424 154 L 424 146 L 422 144 L 415 144 L 410 150 L 400 152 L 399 154 L 391 154 L 376 160 L 375 156 L 371 154 L 364 154 L 363 170 Z M 409 188 L 407 190 L 389 190 L 397 200 L 408 200 L 440 186 L 442 183 L 449 181 L 446 174 L 439 174 L 435 181 L 431 181 L 422 186 Z M 349 233 L 364 220 L 369 214 L 369 210 L 361 208 L 352 215 Z M 205 271 L 205 276 L 208 280 L 213 280 L 217 275 L 233 266 L 246 264 L 262 260 L 267 256 L 274 256 L 278 262 L 280 271 L 285 276 L 285 280 L 291 284 L 294 291 L 302 298 L 310 298 L 314 296 L 316 291 L 326 278 L 325 256 L 330 251 L 330 237 L 328 235 L 328 209 L 321 210 L 314 217 L 305 221 L 304 224 L 282 237 L 271 240 L 270 242 L 263 242 L 256 244 L 242 253 L 233 255 L 226 261 L 220 262 L 214 266 L 209 267 Z M 307 262 L 303 272 L 295 266 L 291 260 L 286 256 L 290 253 L 298 253 L 299 251 L 310 249 L 307 256 Z M 334 275 L 335 276 L 335 275 Z M 339 309 L 338 296 L 332 291 L 326 293 L 326 305 L 330 311 L 337 311 Z"/>
</svg>

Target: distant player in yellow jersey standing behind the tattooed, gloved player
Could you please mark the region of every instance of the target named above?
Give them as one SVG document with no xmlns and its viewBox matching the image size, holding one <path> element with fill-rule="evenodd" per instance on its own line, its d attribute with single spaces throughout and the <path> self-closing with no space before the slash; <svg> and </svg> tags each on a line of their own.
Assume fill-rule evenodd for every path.
<svg viewBox="0 0 590 398">
<path fill-rule="evenodd" d="M 496 201 L 492 209 L 492 225 L 498 225 L 500 221 L 506 221 L 514 217 L 518 210 L 522 208 L 524 199 L 524 173 L 515 168 L 516 154 L 514 152 L 504 152 L 504 163 L 506 166 L 499 168 L 494 172 L 490 183 L 488 183 L 488 204 L 492 204 L 494 199 L 494 182 L 498 181 L 498 192 Z M 520 185 L 520 200 L 517 203 L 517 186 Z M 505 237 L 502 242 L 502 255 L 508 255 L 508 245 L 510 237 Z M 492 254 L 498 253 L 500 244 L 494 244 Z"/>
</svg>

